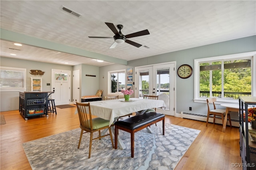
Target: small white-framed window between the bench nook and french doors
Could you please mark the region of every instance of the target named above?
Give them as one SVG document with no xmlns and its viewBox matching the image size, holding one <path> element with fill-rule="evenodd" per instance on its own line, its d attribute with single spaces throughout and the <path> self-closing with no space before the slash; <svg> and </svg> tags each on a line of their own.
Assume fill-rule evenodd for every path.
<svg viewBox="0 0 256 170">
<path fill-rule="evenodd" d="M 122 89 L 126 89 L 125 70 L 108 72 L 108 80 L 108 94 L 118 94 L 121 93 Z"/>
</svg>

